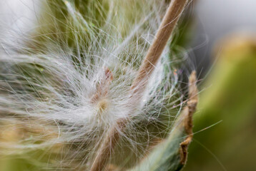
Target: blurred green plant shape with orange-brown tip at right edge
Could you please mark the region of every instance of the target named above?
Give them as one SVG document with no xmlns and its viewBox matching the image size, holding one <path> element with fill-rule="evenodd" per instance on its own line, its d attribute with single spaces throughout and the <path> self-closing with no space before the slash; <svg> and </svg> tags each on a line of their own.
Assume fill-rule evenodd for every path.
<svg viewBox="0 0 256 171">
<path fill-rule="evenodd" d="M 256 170 L 256 41 L 235 33 L 218 46 L 184 170 Z"/>
</svg>

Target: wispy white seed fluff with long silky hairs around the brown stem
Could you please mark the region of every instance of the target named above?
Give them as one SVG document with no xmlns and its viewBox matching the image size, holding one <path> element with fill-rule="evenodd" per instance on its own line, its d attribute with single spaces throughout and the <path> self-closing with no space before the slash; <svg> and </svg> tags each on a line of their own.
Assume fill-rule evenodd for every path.
<svg viewBox="0 0 256 171">
<path fill-rule="evenodd" d="M 110 163 L 139 162 L 167 136 L 182 107 L 171 42 L 142 98 L 130 100 L 169 1 L 33 3 L 40 5 L 33 28 L 15 34 L 15 41 L 4 31 L 10 37 L 16 29 L 1 33 L 0 155 L 36 156 L 43 167 L 87 170 L 107 130 L 127 119 Z"/>
</svg>

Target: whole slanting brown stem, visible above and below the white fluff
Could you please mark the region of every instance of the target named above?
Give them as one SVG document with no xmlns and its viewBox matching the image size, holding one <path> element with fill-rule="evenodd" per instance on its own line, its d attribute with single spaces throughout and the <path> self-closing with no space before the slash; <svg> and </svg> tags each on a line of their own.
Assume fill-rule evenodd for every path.
<svg viewBox="0 0 256 171">
<path fill-rule="evenodd" d="M 147 55 L 142 62 L 142 66 L 139 68 L 138 75 L 132 83 L 132 97 L 137 95 L 141 96 L 141 94 L 144 92 L 145 86 L 147 86 L 148 78 L 152 75 L 154 67 L 159 61 L 159 58 L 164 51 L 164 47 L 166 46 L 167 41 L 172 35 L 174 27 L 179 20 L 179 16 L 181 16 L 182 12 L 184 11 L 187 1 L 188 0 L 172 0 L 171 4 L 169 5 L 154 41 L 147 51 Z M 120 131 L 126 127 L 127 122 L 127 119 L 118 120 L 117 123 L 109 129 L 107 136 L 104 138 L 104 141 L 102 142 L 101 147 L 99 147 L 97 155 L 94 158 L 91 171 L 104 170 L 104 167 L 106 167 L 111 155 L 112 149 L 114 149 L 119 138 L 121 137 Z"/>
</svg>

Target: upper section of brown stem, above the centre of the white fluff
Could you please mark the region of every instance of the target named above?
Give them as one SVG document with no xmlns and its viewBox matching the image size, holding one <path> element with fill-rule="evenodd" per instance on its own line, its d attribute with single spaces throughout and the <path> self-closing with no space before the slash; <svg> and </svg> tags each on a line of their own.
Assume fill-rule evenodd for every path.
<svg viewBox="0 0 256 171">
<path fill-rule="evenodd" d="M 167 13 L 164 15 L 161 25 L 158 28 L 157 35 L 154 38 L 152 45 L 147 51 L 142 66 L 139 68 L 137 77 L 134 79 L 132 89 L 137 89 L 139 92 L 144 90 L 147 85 L 147 80 L 151 76 L 154 67 L 167 45 L 169 37 L 172 35 L 174 27 L 182 15 L 188 0 L 172 0 Z"/>
</svg>

